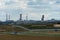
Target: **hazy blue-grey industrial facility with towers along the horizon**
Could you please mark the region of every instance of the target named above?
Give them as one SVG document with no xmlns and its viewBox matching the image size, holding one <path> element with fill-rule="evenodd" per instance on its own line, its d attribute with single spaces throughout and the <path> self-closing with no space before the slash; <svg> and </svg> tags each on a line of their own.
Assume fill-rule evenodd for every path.
<svg viewBox="0 0 60 40">
<path fill-rule="evenodd" d="M 60 20 L 44 20 L 45 17 L 42 15 L 41 20 L 28 20 L 28 15 L 26 16 L 26 20 L 23 20 L 22 14 L 17 21 L 10 20 L 10 15 L 6 14 L 6 21 L 0 21 L 0 24 L 60 24 Z"/>
</svg>

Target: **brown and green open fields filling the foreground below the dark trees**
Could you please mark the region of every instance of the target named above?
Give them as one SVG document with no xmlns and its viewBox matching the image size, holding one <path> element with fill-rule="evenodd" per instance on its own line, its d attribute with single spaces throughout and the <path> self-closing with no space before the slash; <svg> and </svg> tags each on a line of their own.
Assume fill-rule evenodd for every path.
<svg viewBox="0 0 60 40">
<path fill-rule="evenodd" d="M 25 30 L 24 27 L 0 25 L 0 40 L 60 40 L 60 29 Z"/>
</svg>

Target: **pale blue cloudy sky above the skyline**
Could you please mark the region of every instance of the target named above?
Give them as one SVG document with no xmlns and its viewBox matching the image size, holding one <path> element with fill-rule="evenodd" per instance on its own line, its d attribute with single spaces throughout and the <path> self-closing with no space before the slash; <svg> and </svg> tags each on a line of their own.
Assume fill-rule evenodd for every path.
<svg viewBox="0 0 60 40">
<path fill-rule="evenodd" d="M 19 14 L 23 20 L 60 20 L 60 0 L 0 0 L 0 20 L 6 20 L 6 14 L 11 20 L 19 20 Z"/>
</svg>

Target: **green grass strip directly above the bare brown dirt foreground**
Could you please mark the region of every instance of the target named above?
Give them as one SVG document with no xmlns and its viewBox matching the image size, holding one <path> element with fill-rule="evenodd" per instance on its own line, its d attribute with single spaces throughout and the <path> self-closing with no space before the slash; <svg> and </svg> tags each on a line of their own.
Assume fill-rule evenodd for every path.
<svg viewBox="0 0 60 40">
<path fill-rule="evenodd" d="M 0 32 L 0 34 L 10 34 L 9 32 Z M 60 36 L 60 34 L 49 34 L 48 32 L 32 32 L 26 31 L 20 34 L 10 34 L 10 35 L 28 35 L 28 36 Z"/>
</svg>

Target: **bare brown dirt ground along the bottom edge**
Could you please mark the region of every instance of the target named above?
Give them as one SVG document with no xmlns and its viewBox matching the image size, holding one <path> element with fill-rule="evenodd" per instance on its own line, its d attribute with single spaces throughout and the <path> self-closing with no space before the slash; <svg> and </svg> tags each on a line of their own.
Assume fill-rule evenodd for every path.
<svg viewBox="0 0 60 40">
<path fill-rule="evenodd" d="M 0 40 L 60 40 L 60 37 L 0 35 Z"/>
</svg>

